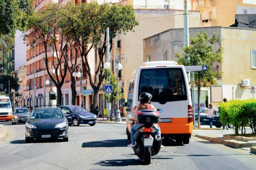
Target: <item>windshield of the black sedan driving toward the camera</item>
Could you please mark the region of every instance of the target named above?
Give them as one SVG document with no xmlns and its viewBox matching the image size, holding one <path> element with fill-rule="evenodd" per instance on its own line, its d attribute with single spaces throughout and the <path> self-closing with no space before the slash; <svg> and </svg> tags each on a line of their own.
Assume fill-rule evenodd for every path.
<svg viewBox="0 0 256 170">
<path fill-rule="evenodd" d="M 63 118 L 58 109 L 38 109 L 35 110 L 30 119 L 60 119 Z"/>
</svg>

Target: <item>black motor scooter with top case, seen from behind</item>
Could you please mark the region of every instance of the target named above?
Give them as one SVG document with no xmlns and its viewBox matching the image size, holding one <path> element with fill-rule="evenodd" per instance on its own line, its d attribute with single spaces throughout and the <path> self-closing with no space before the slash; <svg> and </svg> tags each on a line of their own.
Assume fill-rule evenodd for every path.
<svg viewBox="0 0 256 170">
<path fill-rule="evenodd" d="M 160 116 L 157 111 L 143 109 L 141 114 L 136 115 L 137 123 L 141 126 L 137 128 L 134 134 L 135 147 L 134 153 L 143 160 L 143 164 L 151 163 L 151 156 L 156 155 L 161 148 L 162 138 L 157 133 L 156 123 L 160 122 Z"/>
</svg>

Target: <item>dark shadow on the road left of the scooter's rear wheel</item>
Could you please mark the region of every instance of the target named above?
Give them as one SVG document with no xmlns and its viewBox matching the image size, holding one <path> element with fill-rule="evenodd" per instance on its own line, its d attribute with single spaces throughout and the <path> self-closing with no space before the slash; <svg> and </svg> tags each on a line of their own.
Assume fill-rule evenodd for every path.
<svg viewBox="0 0 256 170">
<path fill-rule="evenodd" d="M 96 165 L 105 166 L 105 167 L 125 167 L 131 165 L 140 165 L 142 161 L 140 159 L 112 159 L 99 161 L 95 163 Z"/>
</svg>

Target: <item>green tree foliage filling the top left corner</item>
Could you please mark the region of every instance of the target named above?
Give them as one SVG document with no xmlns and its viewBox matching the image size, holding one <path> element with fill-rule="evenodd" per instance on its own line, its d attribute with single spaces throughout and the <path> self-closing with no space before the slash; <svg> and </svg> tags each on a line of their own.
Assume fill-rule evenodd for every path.
<svg viewBox="0 0 256 170">
<path fill-rule="evenodd" d="M 33 13 L 33 0 L 0 0 L 0 35 L 23 30 L 27 18 Z"/>
</svg>

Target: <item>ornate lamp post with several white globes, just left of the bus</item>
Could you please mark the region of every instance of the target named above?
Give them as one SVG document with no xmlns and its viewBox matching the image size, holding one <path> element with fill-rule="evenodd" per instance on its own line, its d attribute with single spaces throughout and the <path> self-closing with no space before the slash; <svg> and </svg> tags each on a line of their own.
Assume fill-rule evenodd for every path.
<svg viewBox="0 0 256 170">
<path fill-rule="evenodd" d="M 122 64 L 120 63 L 120 59 L 123 59 L 123 57 L 121 57 L 122 55 L 125 56 L 126 58 L 126 63 L 128 62 L 127 56 L 125 54 L 120 54 L 118 55 L 118 48 L 116 48 L 116 56 L 114 54 L 110 54 L 112 56 L 114 56 L 115 62 L 116 62 L 116 104 L 117 104 L 117 109 L 116 109 L 116 118 L 115 118 L 115 122 L 122 122 L 121 116 L 120 116 L 120 110 L 119 110 L 119 90 L 118 90 L 118 73 L 119 70 L 122 69 Z M 109 62 L 105 62 L 104 63 L 104 68 L 108 69 L 110 68 L 110 64 Z"/>
</svg>

